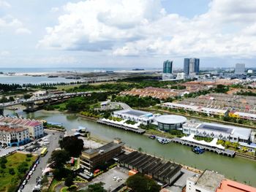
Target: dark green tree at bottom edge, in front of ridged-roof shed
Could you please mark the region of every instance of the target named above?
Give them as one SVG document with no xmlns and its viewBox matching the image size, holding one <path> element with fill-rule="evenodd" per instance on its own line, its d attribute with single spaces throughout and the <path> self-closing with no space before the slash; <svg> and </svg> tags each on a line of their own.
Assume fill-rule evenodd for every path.
<svg viewBox="0 0 256 192">
<path fill-rule="evenodd" d="M 135 174 L 127 179 L 127 186 L 134 192 L 158 192 L 161 187 L 149 177 L 143 174 Z"/>
</svg>

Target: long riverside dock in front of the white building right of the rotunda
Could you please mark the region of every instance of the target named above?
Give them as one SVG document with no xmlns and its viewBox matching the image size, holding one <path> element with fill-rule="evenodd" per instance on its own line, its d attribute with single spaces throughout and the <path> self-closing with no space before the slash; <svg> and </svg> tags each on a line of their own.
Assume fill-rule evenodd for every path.
<svg viewBox="0 0 256 192">
<path fill-rule="evenodd" d="M 211 152 L 214 152 L 214 153 L 218 153 L 219 155 L 227 155 L 229 157 L 234 157 L 236 155 L 236 152 L 234 150 L 219 149 L 217 147 L 210 147 L 210 146 L 207 146 L 207 145 L 200 145 L 198 143 L 187 141 L 187 140 L 180 139 L 180 138 L 174 138 L 171 141 L 182 144 L 182 145 L 187 145 L 187 146 L 190 146 L 190 147 L 202 147 L 205 150 L 208 150 L 208 151 L 211 151 Z"/>
</svg>

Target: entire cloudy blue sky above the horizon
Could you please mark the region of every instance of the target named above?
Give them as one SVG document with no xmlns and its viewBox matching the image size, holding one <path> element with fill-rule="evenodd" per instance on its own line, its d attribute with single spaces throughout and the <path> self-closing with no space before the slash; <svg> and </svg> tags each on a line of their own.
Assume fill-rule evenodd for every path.
<svg viewBox="0 0 256 192">
<path fill-rule="evenodd" d="M 256 67 L 254 0 L 0 0 L 0 69 Z"/>
</svg>

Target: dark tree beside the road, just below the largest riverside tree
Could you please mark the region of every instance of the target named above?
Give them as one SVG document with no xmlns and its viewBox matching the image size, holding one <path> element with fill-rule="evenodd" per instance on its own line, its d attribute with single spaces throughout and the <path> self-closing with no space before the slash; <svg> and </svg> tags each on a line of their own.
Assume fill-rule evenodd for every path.
<svg viewBox="0 0 256 192">
<path fill-rule="evenodd" d="M 67 161 L 70 160 L 69 153 L 65 150 L 55 150 L 50 156 L 49 162 L 51 168 L 60 169 L 64 167 Z"/>
</svg>

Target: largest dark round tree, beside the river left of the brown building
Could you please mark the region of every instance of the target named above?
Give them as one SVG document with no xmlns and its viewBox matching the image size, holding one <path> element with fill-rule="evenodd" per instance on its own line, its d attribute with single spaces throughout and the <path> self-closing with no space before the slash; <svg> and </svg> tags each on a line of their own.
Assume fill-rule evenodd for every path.
<svg viewBox="0 0 256 192">
<path fill-rule="evenodd" d="M 78 139 L 75 136 L 64 137 L 59 145 L 61 149 L 64 149 L 72 157 L 79 157 L 83 150 L 83 139 Z"/>
</svg>

